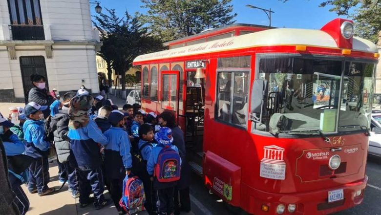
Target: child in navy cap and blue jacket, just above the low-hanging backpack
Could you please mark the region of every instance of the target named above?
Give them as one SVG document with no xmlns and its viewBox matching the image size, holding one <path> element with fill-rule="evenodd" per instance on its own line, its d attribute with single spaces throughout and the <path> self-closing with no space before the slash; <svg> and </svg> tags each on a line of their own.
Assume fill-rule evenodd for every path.
<svg viewBox="0 0 381 215">
<path fill-rule="evenodd" d="M 124 117 L 124 113 L 119 110 L 111 111 L 108 120 L 112 127 L 105 132 L 109 139 L 105 148 L 105 169 L 110 181 L 111 198 L 117 208 L 122 197 L 123 179 L 126 174 L 130 174 L 132 168 L 131 143 L 127 131 L 123 129 Z"/>
</svg>

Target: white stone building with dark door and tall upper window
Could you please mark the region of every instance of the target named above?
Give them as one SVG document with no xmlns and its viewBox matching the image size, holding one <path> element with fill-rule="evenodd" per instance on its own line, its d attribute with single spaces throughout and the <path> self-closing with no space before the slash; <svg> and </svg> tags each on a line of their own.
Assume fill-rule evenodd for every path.
<svg viewBox="0 0 381 215">
<path fill-rule="evenodd" d="M 0 102 L 23 102 L 33 73 L 60 94 L 99 92 L 100 45 L 88 0 L 0 0 Z"/>
</svg>

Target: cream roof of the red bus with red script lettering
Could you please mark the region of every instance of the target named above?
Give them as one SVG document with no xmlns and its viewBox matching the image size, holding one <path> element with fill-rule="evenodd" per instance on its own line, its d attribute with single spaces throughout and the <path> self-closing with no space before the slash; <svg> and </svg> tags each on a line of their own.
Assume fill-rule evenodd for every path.
<svg viewBox="0 0 381 215">
<path fill-rule="evenodd" d="M 145 61 L 269 45 L 307 45 L 326 48 L 339 48 L 335 42 L 335 39 L 328 33 L 321 30 L 276 28 L 237 37 L 140 55 L 135 58 L 134 65 L 138 65 L 139 62 Z M 376 44 L 359 37 L 353 38 L 352 50 L 378 53 Z"/>
</svg>

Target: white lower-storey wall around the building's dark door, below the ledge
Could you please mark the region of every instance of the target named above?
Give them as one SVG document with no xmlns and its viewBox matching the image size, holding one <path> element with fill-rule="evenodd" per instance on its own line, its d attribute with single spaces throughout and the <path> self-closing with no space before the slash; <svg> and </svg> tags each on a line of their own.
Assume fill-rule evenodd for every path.
<svg viewBox="0 0 381 215">
<path fill-rule="evenodd" d="M 5 46 L 0 46 L 0 88 L 14 88 L 17 98 L 24 97 L 21 56 L 45 58 L 50 88 L 57 88 L 59 91 L 77 90 L 84 84 L 93 93 L 99 92 L 95 50 L 92 45 L 53 45 L 52 59 L 46 58 L 43 46 L 16 46 L 17 60 L 10 60 L 4 48 L 6 50 Z M 85 83 L 82 83 L 82 79 Z"/>
</svg>

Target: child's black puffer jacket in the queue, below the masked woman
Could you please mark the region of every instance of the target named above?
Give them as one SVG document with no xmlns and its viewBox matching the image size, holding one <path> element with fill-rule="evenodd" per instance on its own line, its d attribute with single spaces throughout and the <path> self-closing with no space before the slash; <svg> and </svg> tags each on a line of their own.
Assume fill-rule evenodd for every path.
<svg viewBox="0 0 381 215">
<path fill-rule="evenodd" d="M 56 147 L 58 161 L 64 163 L 70 160 L 69 114 L 67 110 L 60 110 L 50 122 L 50 128 L 54 130 L 54 145 Z"/>
</svg>

